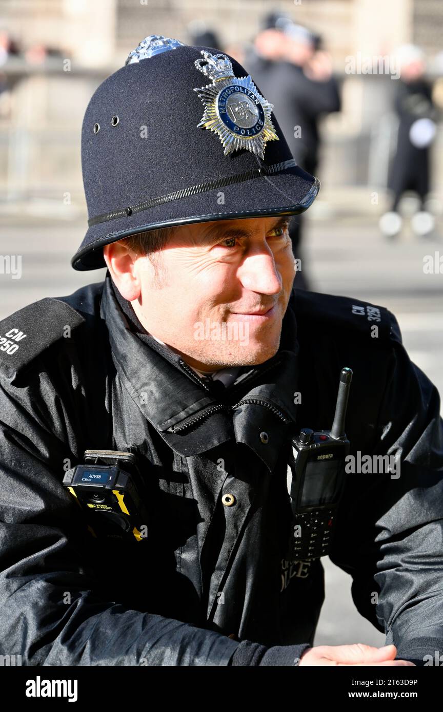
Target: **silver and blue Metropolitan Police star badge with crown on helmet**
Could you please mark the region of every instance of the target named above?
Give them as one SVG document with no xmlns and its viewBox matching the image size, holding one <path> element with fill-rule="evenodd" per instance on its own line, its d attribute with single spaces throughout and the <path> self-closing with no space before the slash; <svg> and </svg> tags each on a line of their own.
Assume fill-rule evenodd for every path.
<svg viewBox="0 0 443 712">
<path fill-rule="evenodd" d="M 279 140 L 271 122 L 273 104 L 261 96 L 250 75 L 234 76 L 226 55 L 201 53 L 203 58 L 194 64 L 212 84 L 194 89 L 204 103 L 197 127 L 219 135 L 225 156 L 245 148 L 263 159 L 266 142 Z"/>
</svg>

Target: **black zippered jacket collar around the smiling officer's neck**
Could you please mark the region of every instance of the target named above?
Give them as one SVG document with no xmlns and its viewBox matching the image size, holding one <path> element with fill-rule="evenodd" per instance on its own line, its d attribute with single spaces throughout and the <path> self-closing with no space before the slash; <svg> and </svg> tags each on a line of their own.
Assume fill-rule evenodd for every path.
<svg viewBox="0 0 443 712">
<path fill-rule="evenodd" d="M 225 402 L 182 357 L 145 330 L 135 332 L 115 296 L 109 272 L 103 284 L 100 315 L 108 328 L 120 379 L 172 449 L 182 456 L 192 456 L 235 437 L 251 447 L 272 471 L 296 420 L 293 394 L 298 384 L 298 341 L 292 297 L 283 318 L 278 352 L 263 364 L 242 369 L 226 389 Z M 232 408 L 234 405 L 237 407 Z M 267 442 L 260 438 L 262 431 L 269 436 Z"/>
</svg>

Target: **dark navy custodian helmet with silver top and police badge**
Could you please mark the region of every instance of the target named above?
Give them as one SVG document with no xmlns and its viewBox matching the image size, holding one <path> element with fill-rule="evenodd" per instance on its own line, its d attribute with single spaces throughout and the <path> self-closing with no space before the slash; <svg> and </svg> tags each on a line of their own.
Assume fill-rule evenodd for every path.
<svg viewBox="0 0 443 712">
<path fill-rule="evenodd" d="M 145 38 L 85 112 L 89 218 L 73 268 L 105 267 L 103 245 L 141 231 L 305 211 L 320 183 L 297 166 L 272 108 L 228 55 Z"/>
</svg>

